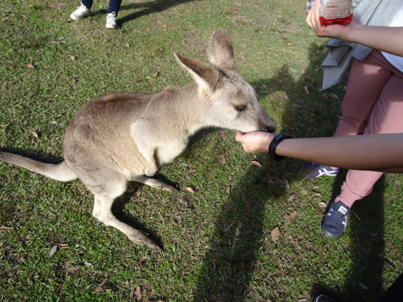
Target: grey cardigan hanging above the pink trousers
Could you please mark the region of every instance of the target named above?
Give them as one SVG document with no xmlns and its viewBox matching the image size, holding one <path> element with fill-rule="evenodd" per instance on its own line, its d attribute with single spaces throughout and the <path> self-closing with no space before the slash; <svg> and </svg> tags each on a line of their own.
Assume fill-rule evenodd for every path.
<svg viewBox="0 0 403 302">
<path fill-rule="evenodd" d="M 360 24 L 388 26 L 402 4 L 403 0 L 355 0 L 353 16 Z M 352 58 L 364 60 L 372 51 L 370 47 L 339 39 L 330 39 L 326 47 L 329 49 L 329 55 L 321 65 L 323 82 L 320 91 L 341 80 Z"/>
</svg>

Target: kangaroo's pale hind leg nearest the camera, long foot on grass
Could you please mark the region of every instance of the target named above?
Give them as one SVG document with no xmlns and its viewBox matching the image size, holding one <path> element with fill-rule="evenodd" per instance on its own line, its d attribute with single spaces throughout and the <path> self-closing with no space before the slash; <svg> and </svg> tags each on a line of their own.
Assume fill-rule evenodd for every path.
<svg viewBox="0 0 403 302">
<path fill-rule="evenodd" d="M 92 215 L 104 222 L 107 226 L 113 226 L 122 233 L 126 234 L 129 239 L 135 243 L 143 244 L 154 249 L 156 252 L 160 252 L 161 248 L 145 235 L 141 230 L 137 230 L 129 224 L 125 224 L 113 215 L 112 205 L 113 201 L 126 190 L 126 179 L 122 176 L 115 175 L 112 177 L 109 175 L 108 182 L 106 179 L 103 185 L 87 185 L 88 189 L 94 194 L 94 209 Z"/>
</svg>

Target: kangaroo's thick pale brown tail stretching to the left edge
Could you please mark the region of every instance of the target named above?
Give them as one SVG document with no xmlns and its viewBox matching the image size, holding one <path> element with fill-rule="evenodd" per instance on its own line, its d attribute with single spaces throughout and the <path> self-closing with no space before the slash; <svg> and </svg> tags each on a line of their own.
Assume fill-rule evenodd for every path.
<svg viewBox="0 0 403 302">
<path fill-rule="evenodd" d="M 0 160 L 56 179 L 56 181 L 72 181 L 77 178 L 76 173 L 67 165 L 65 160 L 58 165 L 52 165 L 7 152 L 0 152 Z"/>
</svg>

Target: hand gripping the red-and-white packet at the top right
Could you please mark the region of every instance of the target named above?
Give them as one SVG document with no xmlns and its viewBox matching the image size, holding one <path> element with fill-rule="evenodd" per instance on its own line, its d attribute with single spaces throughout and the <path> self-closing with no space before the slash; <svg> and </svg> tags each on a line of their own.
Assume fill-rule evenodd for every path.
<svg viewBox="0 0 403 302">
<path fill-rule="evenodd" d="M 315 31 L 318 37 L 336 37 L 338 39 L 349 41 L 349 34 L 352 28 L 356 26 L 356 21 L 352 18 L 349 24 L 331 24 L 324 26 L 320 24 L 320 0 L 315 0 L 313 6 L 306 15 L 306 23 Z"/>
</svg>

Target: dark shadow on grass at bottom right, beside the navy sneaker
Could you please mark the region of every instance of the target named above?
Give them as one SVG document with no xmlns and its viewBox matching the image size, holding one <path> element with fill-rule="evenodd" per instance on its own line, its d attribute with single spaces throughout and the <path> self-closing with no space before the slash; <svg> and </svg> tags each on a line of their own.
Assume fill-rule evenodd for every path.
<svg viewBox="0 0 403 302">
<path fill-rule="evenodd" d="M 330 201 L 334 201 L 340 193 L 340 187 L 347 174 L 347 171 L 344 172 L 335 178 Z M 356 201 L 352 206 L 344 234 L 348 234 L 351 241 L 351 266 L 343 288 L 334 291 L 330 289 L 329 284 L 317 283 L 313 292 L 322 292 L 337 301 L 378 301 L 384 294 L 384 188 L 385 181 L 382 176 L 375 184 L 372 194 Z"/>
</svg>

